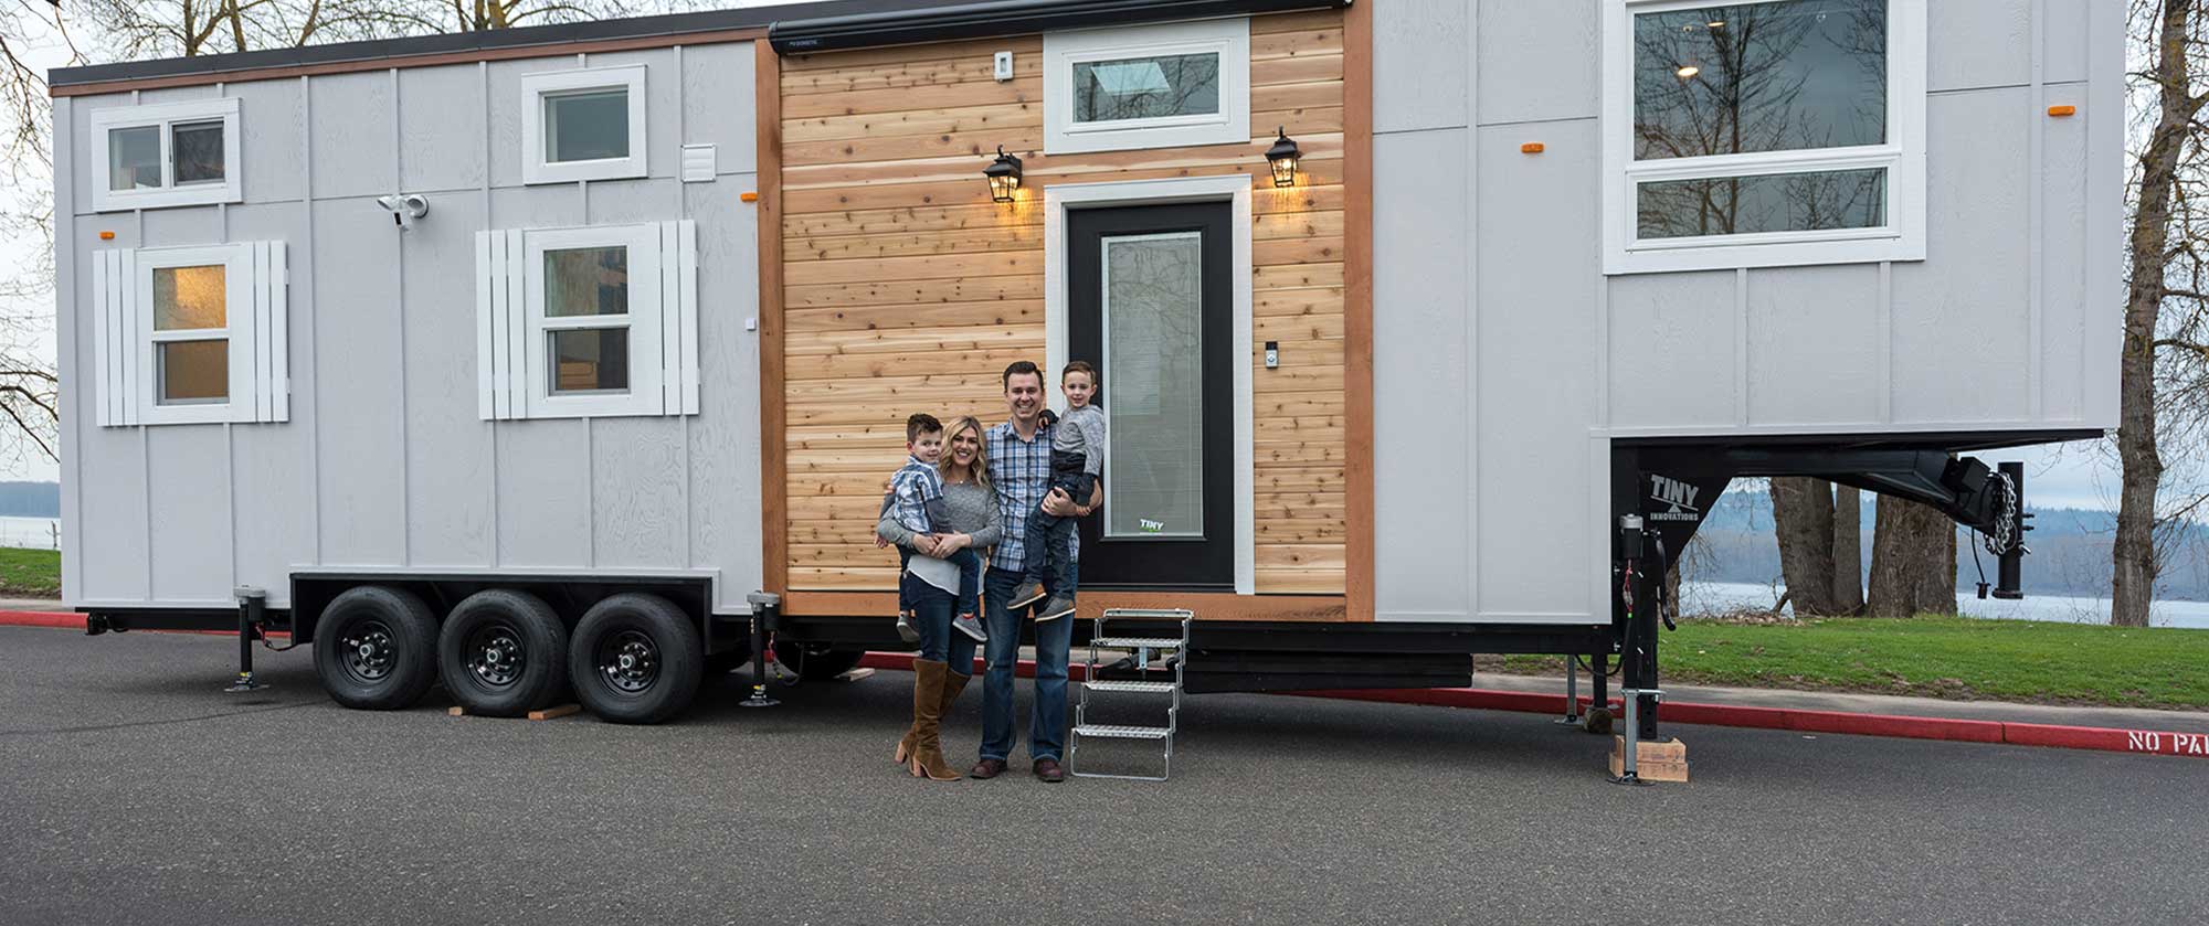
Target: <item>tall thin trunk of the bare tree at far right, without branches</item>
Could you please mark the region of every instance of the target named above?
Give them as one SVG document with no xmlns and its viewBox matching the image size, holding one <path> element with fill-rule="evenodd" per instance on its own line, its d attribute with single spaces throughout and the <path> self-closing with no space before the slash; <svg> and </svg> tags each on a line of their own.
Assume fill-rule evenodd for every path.
<svg viewBox="0 0 2209 926">
<path fill-rule="evenodd" d="M 2147 626 L 2147 604 L 2156 595 L 2156 487 L 2163 456 L 2156 452 L 2156 322 L 2169 295 L 2171 190 L 2187 146 L 2194 112 L 2187 62 L 2187 18 L 2194 2 L 2167 0 L 2156 31 L 2156 130 L 2141 152 L 2141 198 L 2132 216 L 2132 280 L 2125 289 L 2125 351 L 2118 357 L 2116 456 L 2123 487 L 2116 503 L 2116 540 L 2110 558 L 2110 624 Z"/>
</svg>

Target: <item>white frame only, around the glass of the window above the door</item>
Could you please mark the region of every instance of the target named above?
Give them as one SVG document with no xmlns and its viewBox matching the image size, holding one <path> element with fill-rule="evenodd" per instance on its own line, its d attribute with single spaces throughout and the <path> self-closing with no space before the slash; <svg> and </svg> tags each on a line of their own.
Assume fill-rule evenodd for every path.
<svg viewBox="0 0 2209 926">
<path fill-rule="evenodd" d="M 1219 55 L 1219 112 L 1074 121 L 1074 66 L 1116 57 Z M 1250 141 L 1250 20 L 1043 33 L 1043 152 L 1226 146 Z"/>
</svg>

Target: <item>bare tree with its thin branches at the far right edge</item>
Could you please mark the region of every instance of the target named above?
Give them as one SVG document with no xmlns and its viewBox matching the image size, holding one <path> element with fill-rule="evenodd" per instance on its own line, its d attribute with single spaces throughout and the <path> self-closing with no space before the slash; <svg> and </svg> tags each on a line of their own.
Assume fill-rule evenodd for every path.
<svg viewBox="0 0 2209 926">
<path fill-rule="evenodd" d="M 2134 0 L 2134 110 L 2145 146 L 2132 170 L 2129 278 L 2125 344 L 2118 359 L 2116 452 L 2123 465 L 2112 545 L 2110 622 L 2147 626 L 2156 580 L 2174 545 L 2187 542 L 2209 492 L 2171 485 L 2174 463 L 2200 463 L 2209 419 L 2209 287 L 2205 247 L 2209 157 L 2200 121 L 2209 90 L 2202 0 Z M 2136 132 L 2138 134 L 2138 132 Z M 2174 454 L 2178 459 L 2174 459 Z M 2180 470 L 2185 472 L 2185 470 Z M 2165 489 L 2176 489 L 2165 496 Z M 2187 498 L 2191 496 L 2191 498 Z"/>
</svg>

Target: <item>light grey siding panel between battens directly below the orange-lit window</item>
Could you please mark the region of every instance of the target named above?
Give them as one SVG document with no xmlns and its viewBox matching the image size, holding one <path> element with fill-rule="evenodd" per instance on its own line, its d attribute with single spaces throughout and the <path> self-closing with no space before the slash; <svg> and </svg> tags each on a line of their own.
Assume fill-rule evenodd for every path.
<svg viewBox="0 0 2209 926">
<path fill-rule="evenodd" d="M 230 597 L 230 448 L 225 426 L 146 428 L 152 492 L 152 597 Z"/>
</svg>

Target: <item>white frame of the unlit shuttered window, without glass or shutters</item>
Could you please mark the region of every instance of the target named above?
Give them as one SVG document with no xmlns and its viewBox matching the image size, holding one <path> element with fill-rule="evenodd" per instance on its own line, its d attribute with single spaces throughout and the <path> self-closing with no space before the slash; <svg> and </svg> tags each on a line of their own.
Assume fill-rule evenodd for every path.
<svg viewBox="0 0 2209 926">
<path fill-rule="evenodd" d="M 660 414 L 660 229 L 658 225 L 607 225 L 590 229 L 526 232 L 521 238 L 524 287 L 524 375 L 532 419 L 581 419 L 603 414 Z M 627 315 L 546 315 L 546 251 L 583 247 L 627 249 Z M 616 322 L 619 320 L 619 322 Z M 552 390 L 552 333 L 627 329 L 627 392 Z"/>
</svg>

